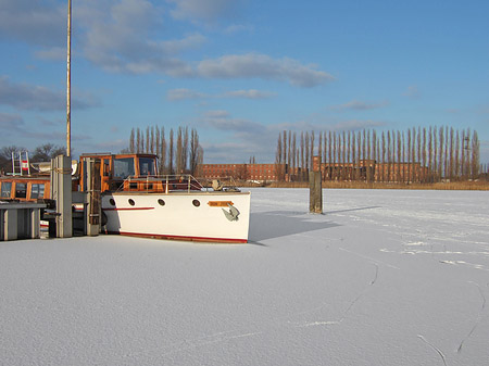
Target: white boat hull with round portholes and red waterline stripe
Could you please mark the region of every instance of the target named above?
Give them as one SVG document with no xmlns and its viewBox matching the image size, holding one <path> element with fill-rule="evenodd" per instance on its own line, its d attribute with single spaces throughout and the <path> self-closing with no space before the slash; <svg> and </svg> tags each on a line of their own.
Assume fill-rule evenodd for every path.
<svg viewBox="0 0 489 366">
<path fill-rule="evenodd" d="M 108 234 L 246 243 L 250 192 L 103 193 L 102 212 Z"/>
</svg>

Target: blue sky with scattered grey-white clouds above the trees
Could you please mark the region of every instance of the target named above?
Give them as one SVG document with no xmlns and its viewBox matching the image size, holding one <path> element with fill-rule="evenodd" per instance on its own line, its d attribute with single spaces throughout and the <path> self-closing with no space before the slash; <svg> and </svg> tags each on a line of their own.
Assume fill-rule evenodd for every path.
<svg viewBox="0 0 489 366">
<path fill-rule="evenodd" d="M 488 1 L 72 0 L 72 146 L 199 131 L 206 163 L 278 131 L 476 129 L 489 163 Z M 0 0 L 0 147 L 65 144 L 67 0 Z"/>
</svg>

